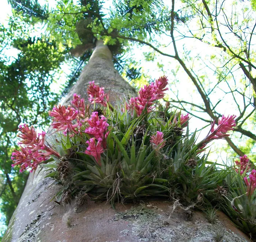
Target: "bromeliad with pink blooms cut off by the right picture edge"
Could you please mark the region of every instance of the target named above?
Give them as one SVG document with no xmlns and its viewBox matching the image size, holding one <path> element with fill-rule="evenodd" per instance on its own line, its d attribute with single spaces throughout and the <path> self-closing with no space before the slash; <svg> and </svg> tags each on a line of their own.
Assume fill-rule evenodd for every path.
<svg viewBox="0 0 256 242">
<path fill-rule="evenodd" d="M 238 228 L 256 239 L 256 170 L 246 155 L 235 164 L 225 179 L 228 189 L 222 194 L 219 207 Z"/>
</svg>

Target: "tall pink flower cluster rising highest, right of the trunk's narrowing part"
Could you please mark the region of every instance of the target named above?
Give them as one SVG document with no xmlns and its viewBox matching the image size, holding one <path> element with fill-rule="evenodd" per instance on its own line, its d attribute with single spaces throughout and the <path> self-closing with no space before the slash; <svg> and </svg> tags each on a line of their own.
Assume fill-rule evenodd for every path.
<svg viewBox="0 0 256 242">
<path fill-rule="evenodd" d="M 168 90 L 167 84 L 167 77 L 162 76 L 155 80 L 154 83 L 144 85 L 144 87 L 140 88 L 138 97 L 131 98 L 126 103 L 127 110 L 135 110 L 137 116 L 140 116 L 143 110 L 149 113 L 153 108 L 153 102 L 164 97 L 164 91 Z"/>
</svg>

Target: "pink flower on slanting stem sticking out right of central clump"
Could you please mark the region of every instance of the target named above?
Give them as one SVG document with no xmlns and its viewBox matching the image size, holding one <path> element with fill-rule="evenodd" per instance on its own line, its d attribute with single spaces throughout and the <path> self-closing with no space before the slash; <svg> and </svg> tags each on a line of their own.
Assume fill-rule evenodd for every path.
<svg viewBox="0 0 256 242">
<path fill-rule="evenodd" d="M 233 130 L 234 126 L 236 126 L 236 121 L 234 120 L 235 117 L 235 115 L 227 117 L 222 115 L 222 118 L 218 121 L 218 127 L 216 129 L 214 129 L 215 121 L 212 122 L 208 135 L 199 143 L 199 150 L 202 150 L 204 147 L 206 147 L 207 143 L 214 139 L 223 139 L 229 136 L 227 132 Z"/>
</svg>

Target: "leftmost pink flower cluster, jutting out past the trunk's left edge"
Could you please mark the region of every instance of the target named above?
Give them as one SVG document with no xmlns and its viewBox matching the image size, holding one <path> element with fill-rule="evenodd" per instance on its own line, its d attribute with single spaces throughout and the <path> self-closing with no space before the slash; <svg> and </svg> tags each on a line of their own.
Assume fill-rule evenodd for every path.
<svg viewBox="0 0 256 242">
<path fill-rule="evenodd" d="M 21 141 L 18 143 L 20 150 L 14 150 L 12 152 L 11 159 L 14 162 L 12 167 L 20 166 L 20 172 L 32 168 L 33 171 L 37 169 L 39 163 L 49 159 L 49 155 L 55 155 L 60 157 L 60 155 L 50 148 L 48 145 L 45 145 L 45 135 L 35 131 L 33 126 L 29 127 L 27 124 L 20 125 L 18 131 L 18 137 Z"/>
</svg>

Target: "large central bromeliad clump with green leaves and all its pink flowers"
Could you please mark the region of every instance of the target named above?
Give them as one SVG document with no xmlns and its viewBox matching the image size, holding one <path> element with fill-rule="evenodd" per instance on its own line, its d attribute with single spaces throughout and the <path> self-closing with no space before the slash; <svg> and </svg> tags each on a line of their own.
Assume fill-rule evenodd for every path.
<svg viewBox="0 0 256 242">
<path fill-rule="evenodd" d="M 167 89 L 163 76 L 140 88 L 137 97 L 112 106 L 104 88 L 90 82 L 88 104 L 74 94 L 71 105 L 49 111 L 54 132 L 48 142 L 45 132 L 19 127 L 21 148 L 12 153 L 13 165 L 20 171 L 48 167 L 46 177 L 59 182 L 57 200 L 63 202 L 174 196 L 187 204 L 209 203 L 207 196 L 216 194 L 227 171 L 203 152 L 212 140 L 228 136 L 235 116 L 222 116 L 217 127 L 214 121 L 206 138 L 196 143 L 188 114 L 159 103 Z"/>
</svg>

